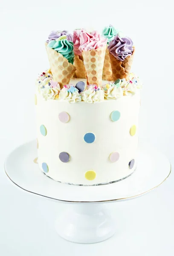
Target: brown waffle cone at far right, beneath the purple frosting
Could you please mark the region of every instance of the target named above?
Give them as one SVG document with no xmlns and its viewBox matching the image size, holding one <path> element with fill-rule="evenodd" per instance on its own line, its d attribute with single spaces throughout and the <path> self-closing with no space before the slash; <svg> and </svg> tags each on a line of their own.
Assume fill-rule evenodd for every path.
<svg viewBox="0 0 174 256">
<path fill-rule="evenodd" d="M 133 62 L 134 52 L 135 49 L 133 50 L 132 55 L 129 55 L 127 58 L 125 58 L 124 61 L 117 60 L 112 54 L 109 53 L 113 73 L 113 81 L 123 78 L 128 80 L 128 76 Z"/>
</svg>

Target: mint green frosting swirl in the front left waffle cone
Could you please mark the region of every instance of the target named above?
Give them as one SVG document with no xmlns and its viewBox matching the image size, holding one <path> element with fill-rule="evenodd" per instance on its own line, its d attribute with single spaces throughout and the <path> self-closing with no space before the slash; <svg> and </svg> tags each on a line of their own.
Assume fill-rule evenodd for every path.
<svg viewBox="0 0 174 256">
<path fill-rule="evenodd" d="M 67 39 L 62 40 L 51 40 L 48 43 L 48 47 L 54 49 L 56 52 L 61 53 L 65 58 L 67 58 L 68 62 L 74 62 L 74 52 L 73 52 L 73 42 L 68 41 Z"/>
</svg>

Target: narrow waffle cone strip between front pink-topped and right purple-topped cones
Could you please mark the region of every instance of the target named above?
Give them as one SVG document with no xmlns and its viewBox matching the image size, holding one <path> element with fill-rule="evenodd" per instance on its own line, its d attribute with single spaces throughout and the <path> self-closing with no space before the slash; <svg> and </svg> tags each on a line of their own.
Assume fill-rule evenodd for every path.
<svg viewBox="0 0 174 256">
<path fill-rule="evenodd" d="M 107 81 L 113 81 L 112 67 L 110 64 L 110 57 L 109 57 L 109 50 L 107 48 L 106 48 L 105 58 L 104 58 L 102 79 L 107 80 Z"/>
</svg>

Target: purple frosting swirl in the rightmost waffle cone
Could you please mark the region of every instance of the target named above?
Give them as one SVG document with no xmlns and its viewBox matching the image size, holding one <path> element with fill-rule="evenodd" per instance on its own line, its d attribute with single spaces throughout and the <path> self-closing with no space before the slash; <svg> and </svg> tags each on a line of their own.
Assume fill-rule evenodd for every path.
<svg viewBox="0 0 174 256">
<path fill-rule="evenodd" d="M 110 54 L 112 54 L 118 61 L 124 61 L 128 55 L 132 55 L 133 41 L 131 38 L 120 38 L 119 35 L 116 35 L 113 41 L 109 43 L 108 49 Z"/>
</svg>

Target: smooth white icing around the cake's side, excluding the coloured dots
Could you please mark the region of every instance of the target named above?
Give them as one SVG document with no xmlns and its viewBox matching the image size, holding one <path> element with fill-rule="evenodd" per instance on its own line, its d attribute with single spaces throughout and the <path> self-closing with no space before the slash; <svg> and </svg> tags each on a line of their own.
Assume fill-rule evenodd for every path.
<svg viewBox="0 0 174 256">
<path fill-rule="evenodd" d="M 71 83 L 76 84 L 81 80 L 73 79 Z M 43 162 L 48 165 L 49 177 L 64 183 L 93 185 L 122 179 L 135 170 L 140 101 L 138 90 L 134 95 L 97 104 L 83 101 L 69 104 L 67 100 L 45 101 L 39 92 L 37 99 L 38 163 L 41 169 Z M 115 110 L 121 116 L 113 122 L 110 114 Z M 69 122 L 60 122 L 58 114 L 61 112 L 70 115 Z M 45 137 L 40 133 L 41 125 L 47 129 Z M 129 133 L 132 125 L 137 128 L 134 136 Z M 84 141 L 84 135 L 88 132 L 96 137 L 90 144 Z M 68 163 L 59 160 L 61 152 L 70 154 Z M 119 160 L 115 163 L 109 160 L 112 152 L 119 153 Z M 129 169 L 128 163 L 132 159 L 135 159 L 135 165 Z M 91 169 L 96 172 L 96 178 L 87 180 L 85 172 Z"/>
</svg>

